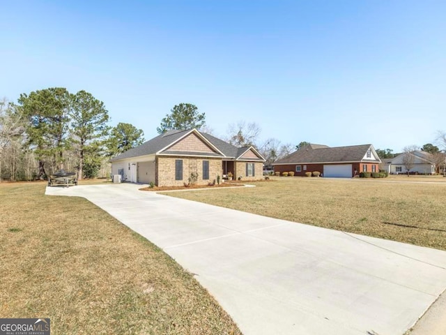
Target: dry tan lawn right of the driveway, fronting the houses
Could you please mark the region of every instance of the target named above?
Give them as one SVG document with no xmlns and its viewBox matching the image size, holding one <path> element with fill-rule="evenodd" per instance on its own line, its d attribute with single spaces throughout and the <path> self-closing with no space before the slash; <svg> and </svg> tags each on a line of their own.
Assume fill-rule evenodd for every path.
<svg viewBox="0 0 446 335">
<path fill-rule="evenodd" d="M 277 177 L 270 182 L 254 183 L 255 188 L 167 194 L 263 216 L 446 250 L 444 181 L 446 178 L 441 176 L 394 176 L 389 179 Z"/>
</svg>

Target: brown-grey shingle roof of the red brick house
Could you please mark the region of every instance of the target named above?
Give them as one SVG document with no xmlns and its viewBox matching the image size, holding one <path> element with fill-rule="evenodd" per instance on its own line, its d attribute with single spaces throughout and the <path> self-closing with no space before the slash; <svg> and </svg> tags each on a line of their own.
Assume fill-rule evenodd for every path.
<svg viewBox="0 0 446 335">
<path fill-rule="evenodd" d="M 316 149 L 313 149 L 315 146 Z M 298 151 L 294 151 L 275 164 L 298 164 L 298 163 L 335 163 L 335 162 L 378 162 L 375 159 L 365 160 L 364 155 L 371 147 L 371 144 L 352 145 L 348 147 L 330 148 L 318 144 L 309 144 Z"/>
</svg>

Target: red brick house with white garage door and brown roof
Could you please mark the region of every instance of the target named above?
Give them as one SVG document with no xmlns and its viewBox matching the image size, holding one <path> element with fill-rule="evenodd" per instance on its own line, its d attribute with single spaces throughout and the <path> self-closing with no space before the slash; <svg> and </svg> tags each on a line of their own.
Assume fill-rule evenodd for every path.
<svg viewBox="0 0 446 335">
<path fill-rule="evenodd" d="M 293 171 L 295 176 L 305 172 L 321 172 L 323 177 L 351 178 L 360 172 L 379 172 L 381 163 L 371 144 L 349 147 L 328 147 L 308 144 L 272 163 L 275 172 Z"/>
</svg>

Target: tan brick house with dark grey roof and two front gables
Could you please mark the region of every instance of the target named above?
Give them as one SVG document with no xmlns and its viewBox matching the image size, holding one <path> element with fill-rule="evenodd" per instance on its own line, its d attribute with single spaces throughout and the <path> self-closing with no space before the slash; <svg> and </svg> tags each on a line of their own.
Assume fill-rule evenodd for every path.
<svg viewBox="0 0 446 335">
<path fill-rule="evenodd" d="M 231 172 L 259 179 L 265 158 L 254 147 L 238 148 L 197 129 L 167 131 L 112 158 L 112 174 L 124 181 L 156 186 L 208 184 Z"/>
</svg>

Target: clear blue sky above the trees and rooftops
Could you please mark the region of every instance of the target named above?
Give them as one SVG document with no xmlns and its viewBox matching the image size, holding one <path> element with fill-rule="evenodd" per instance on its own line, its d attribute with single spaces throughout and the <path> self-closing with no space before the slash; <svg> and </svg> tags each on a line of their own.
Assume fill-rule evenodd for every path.
<svg viewBox="0 0 446 335">
<path fill-rule="evenodd" d="M 3 1 L 0 97 L 89 91 L 157 135 L 178 103 L 215 135 L 394 151 L 446 131 L 446 1 Z"/>
</svg>

